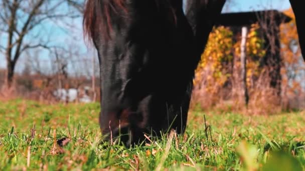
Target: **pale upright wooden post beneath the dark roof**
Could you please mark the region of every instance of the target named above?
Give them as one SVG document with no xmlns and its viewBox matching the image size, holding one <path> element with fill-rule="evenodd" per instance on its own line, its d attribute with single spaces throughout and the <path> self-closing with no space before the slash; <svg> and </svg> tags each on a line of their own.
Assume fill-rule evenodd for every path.
<svg viewBox="0 0 305 171">
<path fill-rule="evenodd" d="M 240 62 L 241 62 L 241 97 L 244 97 L 245 105 L 248 106 L 249 95 L 247 88 L 247 68 L 246 68 L 246 40 L 248 29 L 246 26 L 241 28 Z"/>
</svg>

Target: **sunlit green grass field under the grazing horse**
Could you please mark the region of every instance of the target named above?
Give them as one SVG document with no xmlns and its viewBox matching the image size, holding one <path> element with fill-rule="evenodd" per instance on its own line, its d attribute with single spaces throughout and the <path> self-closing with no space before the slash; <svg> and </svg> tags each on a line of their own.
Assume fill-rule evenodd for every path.
<svg viewBox="0 0 305 171">
<path fill-rule="evenodd" d="M 305 112 L 192 111 L 184 135 L 130 148 L 99 144 L 98 113 L 98 103 L 0 101 L 0 170 L 305 170 Z"/>
</svg>

